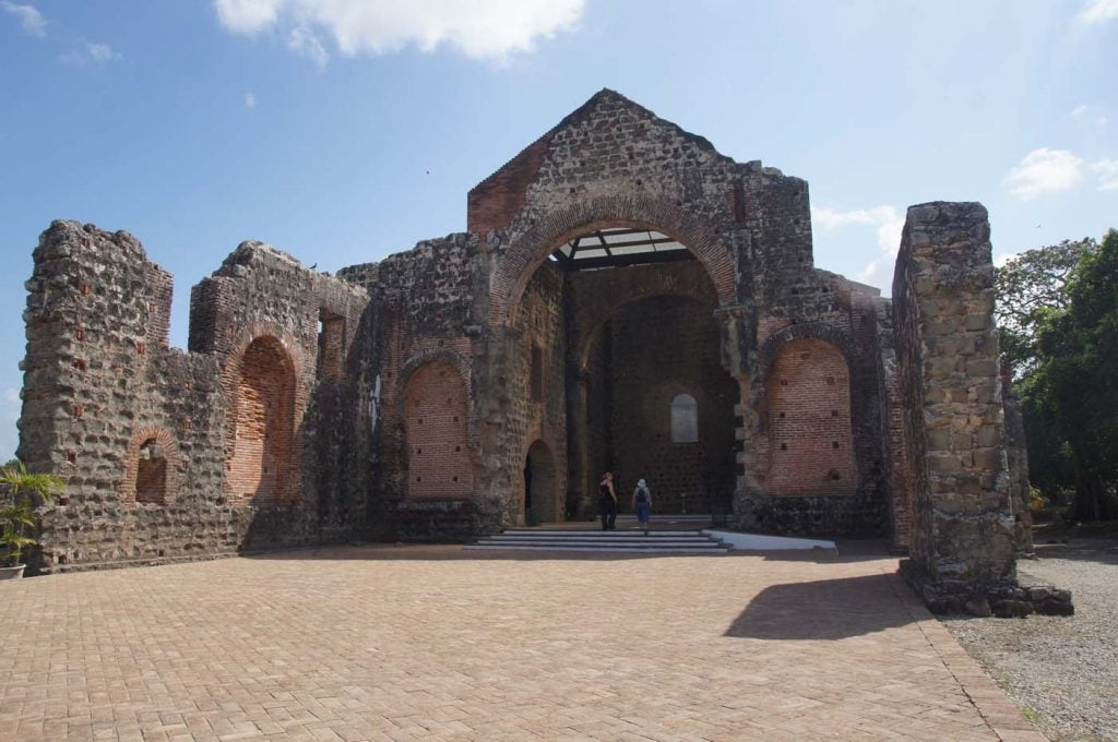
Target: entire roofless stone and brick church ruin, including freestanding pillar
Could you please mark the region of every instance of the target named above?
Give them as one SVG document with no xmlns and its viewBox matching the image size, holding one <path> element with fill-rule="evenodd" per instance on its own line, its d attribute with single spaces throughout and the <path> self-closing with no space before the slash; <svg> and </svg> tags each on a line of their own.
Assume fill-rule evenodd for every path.
<svg viewBox="0 0 1118 742">
<path fill-rule="evenodd" d="M 612 469 L 660 513 L 888 536 L 940 609 L 1027 601 L 993 275 L 977 203 L 909 209 L 891 299 L 816 268 L 806 182 L 612 91 L 470 191 L 465 232 L 337 276 L 241 244 L 186 352 L 141 244 L 56 221 L 19 424 L 68 481 L 40 569 L 470 540 L 590 517 Z"/>
</svg>

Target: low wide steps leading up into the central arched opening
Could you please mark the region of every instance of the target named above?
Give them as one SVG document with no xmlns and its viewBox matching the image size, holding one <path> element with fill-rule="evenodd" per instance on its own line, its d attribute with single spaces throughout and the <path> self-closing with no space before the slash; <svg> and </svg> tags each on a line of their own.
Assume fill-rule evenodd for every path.
<svg viewBox="0 0 1118 742">
<path fill-rule="evenodd" d="M 615 554 L 726 554 L 730 548 L 701 531 L 591 531 L 510 529 L 468 550 L 597 552 Z"/>
</svg>

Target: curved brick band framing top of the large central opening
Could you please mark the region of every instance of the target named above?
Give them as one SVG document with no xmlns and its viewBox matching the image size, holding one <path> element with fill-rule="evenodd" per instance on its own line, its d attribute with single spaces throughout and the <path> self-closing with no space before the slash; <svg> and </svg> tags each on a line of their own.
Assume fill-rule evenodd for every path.
<svg viewBox="0 0 1118 742">
<path fill-rule="evenodd" d="M 708 219 L 669 199 L 601 196 L 557 209 L 515 238 L 490 284 L 490 322 L 512 322 L 528 282 L 559 245 L 605 227 L 654 229 L 672 237 L 690 249 L 710 274 L 719 305 L 735 303 L 733 255 Z"/>
</svg>

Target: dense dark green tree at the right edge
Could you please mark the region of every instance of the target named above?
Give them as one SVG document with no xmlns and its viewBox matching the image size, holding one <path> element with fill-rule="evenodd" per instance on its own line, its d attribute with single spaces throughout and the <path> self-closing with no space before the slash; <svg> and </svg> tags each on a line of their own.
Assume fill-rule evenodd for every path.
<svg viewBox="0 0 1118 742">
<path fill-rule="evenodd" d="M 1107 492 L 1118 481 L 1118 231 L 1082 253 L 1064 294 L 1067 308 L 1035 315 L 1029 403 L 1064 441 L 1074 516 L 1115 517 Z"/>
</svg>

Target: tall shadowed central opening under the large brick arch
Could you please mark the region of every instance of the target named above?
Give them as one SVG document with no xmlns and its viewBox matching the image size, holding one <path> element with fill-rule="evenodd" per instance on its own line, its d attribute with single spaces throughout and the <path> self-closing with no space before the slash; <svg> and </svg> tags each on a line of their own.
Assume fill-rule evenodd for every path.
<svg viewBox="0 0 1118 742">
<path fill-rule="evenodd" d="M 710 257 L 709 247 L 693 251 L 651 225 L 597 222 L 565 232 L 522 293 L 513 292 L 509 358 L 522 371 L 510 374 L 510 397 L 525 402 L 517 410 L 525 412 L 523 429 L 560 444 L 560 486 L 572 515 L 593 514 L 605 470 L 615 474 L 623 510 L 641 477 L 656 492 L 657 512 L 730 506 L 741 387 L 723 365 Z M 561 407 L 553 403 L 559 394 Z M 693 425 L 679 435 L 673 419 L 685 413 Z"/>
</svg>

